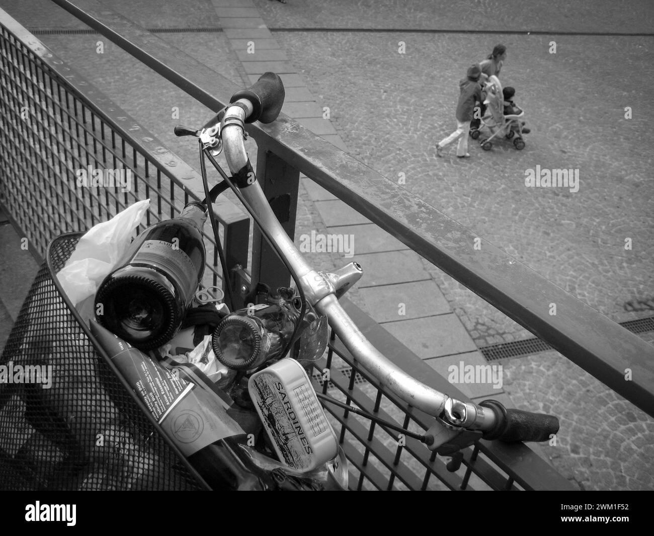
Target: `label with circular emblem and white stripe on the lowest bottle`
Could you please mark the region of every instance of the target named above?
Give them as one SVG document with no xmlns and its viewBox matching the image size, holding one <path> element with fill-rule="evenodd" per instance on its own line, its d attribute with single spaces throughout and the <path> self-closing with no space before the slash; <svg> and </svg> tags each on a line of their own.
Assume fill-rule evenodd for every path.
<svg viewBox="0 0 654 536">
<path fill-rule="evenodd" d="M 95 321 L 91 331 L 184 456 L 224 437 L 243 433 L 216 393 L 182 380 Z"/>
</svg>

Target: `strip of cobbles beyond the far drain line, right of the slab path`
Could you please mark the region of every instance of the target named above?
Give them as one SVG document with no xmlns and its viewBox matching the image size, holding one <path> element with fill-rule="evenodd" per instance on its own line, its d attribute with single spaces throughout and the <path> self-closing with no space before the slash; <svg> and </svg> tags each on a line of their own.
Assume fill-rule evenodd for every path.
<svg viewBox="0 0 654 536">
<path fill-rule="evenodd" d="M 274 28 L 651 33 L 647 0 L 255 0 Z"/>
</svg>

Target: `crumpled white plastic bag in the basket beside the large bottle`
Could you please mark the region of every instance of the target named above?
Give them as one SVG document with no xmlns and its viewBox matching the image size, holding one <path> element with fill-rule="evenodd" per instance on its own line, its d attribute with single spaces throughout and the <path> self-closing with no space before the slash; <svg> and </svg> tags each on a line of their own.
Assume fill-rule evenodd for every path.
<svg viewBox="0 0 654 536">
<path fill-rule="evenodd" d="M 65 266 L 57 274 L 63 291 L 77 306 L 113 270 L 131 243 L 131 234 L 141 223 L 150 200 L 137 201 L 111 220 L 98 223 L 80 238 Z"/>
</svg>

